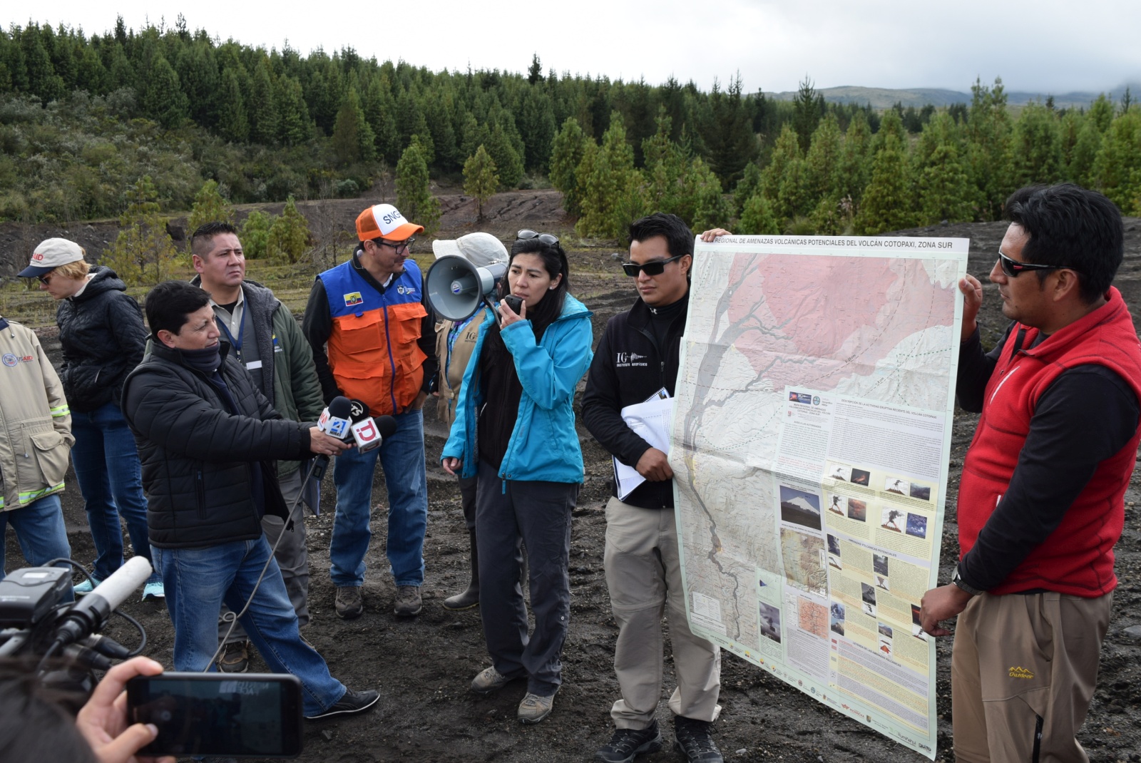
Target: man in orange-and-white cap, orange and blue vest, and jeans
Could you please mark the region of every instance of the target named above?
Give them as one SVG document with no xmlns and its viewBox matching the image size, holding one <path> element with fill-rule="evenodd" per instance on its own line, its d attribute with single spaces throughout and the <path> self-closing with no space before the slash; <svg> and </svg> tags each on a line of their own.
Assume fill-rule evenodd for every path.
<svg viewBox="0 0 1141 763">
<path fill-rule="evenodd" d="M 373 416 L 389 415 L 396 431 L 366 453 L 348 451 L 333 468 L 337 514 L 329 544 L 337 614 L 364 611 L 365 552 L 372 530 L 372 482 L 377 461 L 388 488 L 386 551 L 396 583 L 393 611 L 420 614 L 428 527 L 423 404 L 436 375 L 435 319 L 420 268 L 410 252 L 423 227 L 391 204 L 357 216 L 361 243 L 351 259 L 317 276 L 301 330 L 313 346 L 322 392 L 361 400 Z"/>
</svg>

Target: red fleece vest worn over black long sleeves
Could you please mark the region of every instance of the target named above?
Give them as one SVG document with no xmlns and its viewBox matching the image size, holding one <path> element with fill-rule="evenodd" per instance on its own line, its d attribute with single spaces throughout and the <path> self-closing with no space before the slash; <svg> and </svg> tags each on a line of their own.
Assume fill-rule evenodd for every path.
<svg viewBox="0 0 1141 763">
<path fill-rule="evenodd" d="M 1078 365 L 1102 365 L 1120 375 L 1141 400 L 1141 344 L 1133 320 L 1116 289 L 1110 287 L 1106 297 L 1106 305 L 1034 349 L 1015 352 L 1014 336 L 1018 331 L 1026 331 L 1022 347 L 1029 347 L 1037 328 L 1019 324 L 1006 340 L 987 382 L 982 416 L 963 462 L 958 488 L 962 555 L 974 545 L 1006 492 L 1038 398 L 1059 374 Z M 1125 447 L 1098 465 L 1058 529 L 989 593 L 1046 589 L 1094 598 L 1117 586 L 1114 544 L 1125 523 L 1125 488 L 1136 462 L 1139 439 L 1141 429 Z"/>
</svg>

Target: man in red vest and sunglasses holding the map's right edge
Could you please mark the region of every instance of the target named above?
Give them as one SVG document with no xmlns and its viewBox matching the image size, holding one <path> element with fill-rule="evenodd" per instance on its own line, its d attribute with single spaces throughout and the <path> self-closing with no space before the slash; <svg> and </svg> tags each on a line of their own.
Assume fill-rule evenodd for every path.
<svg viewBox="0 0 1141 763">
<path fill-rule="evenodd" d="M 1120 293 L 1122 218 L 1101 194 L 1030 187 L 990 281 L 1010 327 L 984 352 L 982 286 L 964 294 L 956 397 L 981 412 L 958 488 L 960 561 L 922 627 L 960 615 L 955 758 L 1089 761 L 1085 721 L 1109 625 L 1114 544 L 1136 461 L 1141 344 Z"/>
</svg>

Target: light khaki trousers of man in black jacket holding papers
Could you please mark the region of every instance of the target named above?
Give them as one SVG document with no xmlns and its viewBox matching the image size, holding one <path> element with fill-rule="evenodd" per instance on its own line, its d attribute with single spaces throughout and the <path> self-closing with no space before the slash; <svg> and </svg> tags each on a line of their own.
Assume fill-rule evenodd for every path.
<svg viewBox="0 0 1141 763">
<path fill-rule="evenodd" d="M 721 650 L 689 630 L 673 509 L 606 504 L 606 585 L 618 625 L 614 672 L 622 698 L 610 708 L 618 729 L 646 729 L 662 696 L 662 615 L 669 614 L 678 687 L 670 709 L 714 721 L 721 689 Z"/>
</svg>

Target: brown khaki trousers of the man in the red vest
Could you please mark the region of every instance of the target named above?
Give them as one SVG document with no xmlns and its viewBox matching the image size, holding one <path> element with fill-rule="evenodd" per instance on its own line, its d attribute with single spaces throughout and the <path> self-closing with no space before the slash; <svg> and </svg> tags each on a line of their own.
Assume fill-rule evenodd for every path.
<svg viewBox="0 0 1141 763">
<path fill-rule="evenodd" d="M 958 616 L 950 664 L 955 760 L 1086 763 L 1075 734 L 1098 680 L 1114 594 L 981 594 Z"/>
</svg>

